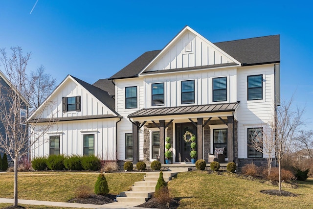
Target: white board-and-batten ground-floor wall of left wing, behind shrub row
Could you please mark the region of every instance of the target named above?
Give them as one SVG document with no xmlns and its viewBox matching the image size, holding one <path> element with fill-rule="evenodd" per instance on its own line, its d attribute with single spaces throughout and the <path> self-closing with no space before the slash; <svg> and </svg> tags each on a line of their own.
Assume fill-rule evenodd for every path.
<svg viewBox="0 0 313 209">
<path fill-rule="evenodd" d="M 83 155 L 84 135 L 94 134 L 94 155 L 103 160 L 115 160 L 116 121 L 114 118 L 58 122 L 33 145 L 31 157 L 49 155 L 50 136 L 60 136 L 60 154 Z M 35 130 L 32 140 L 40 135 L 39 128 Z"/>
</svg>

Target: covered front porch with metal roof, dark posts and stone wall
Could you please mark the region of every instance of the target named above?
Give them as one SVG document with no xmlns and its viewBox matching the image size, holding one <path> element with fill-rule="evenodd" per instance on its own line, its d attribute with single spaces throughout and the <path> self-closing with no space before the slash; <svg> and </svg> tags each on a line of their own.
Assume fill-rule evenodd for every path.
<svg viewBox="0 0 313 209">
<path fill-rule="evenodd" d="M 237 120 L 239 102 L 214 105 L 193 105 L 170 108 L 142 109 L 131 115 L 133 124 L 133 163 L 151 162 L 159 156 L 164 164 L 165 137 L 170 137 L 173 164 L 191 165 L 190 143 L 183 138 L 191 132 L 197 138 L 197 160 L 209 161 L 214 149 L 223 147 L 226 162 L 238 163 Z M 139 130 L 143 129 L 143 159 L 139 159 Z M 155 137 L 156 136 L 156 137 Z M 158 144 L 154 138 L 158 137 Z M 224 137 L 224 140 L 223 140 Z M 142 146 L 141 146 L 142 147 Z"/>
</svg>

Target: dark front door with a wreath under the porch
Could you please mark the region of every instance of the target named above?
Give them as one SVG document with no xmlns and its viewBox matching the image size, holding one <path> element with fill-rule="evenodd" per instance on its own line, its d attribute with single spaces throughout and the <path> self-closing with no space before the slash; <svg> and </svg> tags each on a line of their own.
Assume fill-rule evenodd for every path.
<svg viewBox="0 0 313 209">
<path fill-rule="evenodd" d="M 190 158 L 190 142 L 184 140 L 186 131 L 190 131 L 197 137 L 197 127 L 192 123 L 176 123 L 175 125 L 175 147 L 176 147 L 176 162 L 191 162 Z"/>
</svg>

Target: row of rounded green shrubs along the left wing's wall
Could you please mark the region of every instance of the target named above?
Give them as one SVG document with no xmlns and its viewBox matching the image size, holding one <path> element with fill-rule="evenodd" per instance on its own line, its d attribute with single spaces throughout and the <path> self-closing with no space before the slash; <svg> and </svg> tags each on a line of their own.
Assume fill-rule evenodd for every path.
<svg viewBox="0 0 313 209">
<path fill-rule="evenodd" d="M 100 170 L 100 159 L 94 155 L 37 157 L 31 162 L 34 170 Z"/>
</svg>

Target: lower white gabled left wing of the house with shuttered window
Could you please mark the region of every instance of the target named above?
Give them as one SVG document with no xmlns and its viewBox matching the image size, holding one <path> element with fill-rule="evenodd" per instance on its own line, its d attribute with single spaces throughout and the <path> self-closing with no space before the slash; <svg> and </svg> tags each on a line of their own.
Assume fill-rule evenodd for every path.
<svg viewBox="0 0 313 209">
<path fill-rule="evenodd" d="M 38 122 L 45 123 L 52 117 L 56 123 L 34 144 L 32 158 L 94 154 L 116 159 L 116 123 L 121 116 L 114 111 L 114 99 L 108 92 L 68 75 L 47 101 L 52 101 L 52 107 L 46 107 Z M 28 119 L 30 123 L 40 108 Z M 40 132 L 40 126 L 38 129 L 35 132 Z"/>
</svg>

